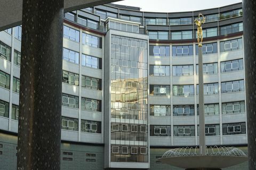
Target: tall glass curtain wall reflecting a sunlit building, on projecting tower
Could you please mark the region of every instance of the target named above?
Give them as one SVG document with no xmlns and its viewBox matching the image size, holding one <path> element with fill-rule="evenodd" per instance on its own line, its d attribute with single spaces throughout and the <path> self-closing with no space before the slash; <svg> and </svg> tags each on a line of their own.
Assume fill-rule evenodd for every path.
<svg viewBox="0 0 256 170">
<path fill-rule="evenodd" d="M 111 36 L 111 162 L 148 162 L 147 46 Z"/>
</svg>

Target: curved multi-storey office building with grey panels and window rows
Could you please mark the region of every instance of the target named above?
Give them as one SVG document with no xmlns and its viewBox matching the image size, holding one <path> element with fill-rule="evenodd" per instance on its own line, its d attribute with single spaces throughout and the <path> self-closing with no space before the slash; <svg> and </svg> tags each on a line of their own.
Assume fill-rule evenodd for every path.
<svg viewBox="0 0 256 170">
<path fill-rule="evenodd" d="M 206 145 L 247 152 L 242 3 L 178 13 L 107 4 L 65 14 L 61 169 L 169 169 L 156 160 L 166 150 L 198 146 L 198 13 Z M 0 32 L 0 167 L 8 170 L 17 163 L 21 29 Z"/>
</svg>

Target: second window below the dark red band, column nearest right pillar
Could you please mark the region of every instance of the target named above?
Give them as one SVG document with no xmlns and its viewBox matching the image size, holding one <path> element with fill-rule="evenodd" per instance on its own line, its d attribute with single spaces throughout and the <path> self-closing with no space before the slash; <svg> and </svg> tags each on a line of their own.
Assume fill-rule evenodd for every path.
<svg viewBox="0 0 256 170">
<path fill-rule="evenodd" d="M 230 71 L 244 70 L 244 62 L 243 62 L 243 59 L 221 62 L 220 68 L 221 68 L 222 73 L 230 72 Z"/>
</svg>

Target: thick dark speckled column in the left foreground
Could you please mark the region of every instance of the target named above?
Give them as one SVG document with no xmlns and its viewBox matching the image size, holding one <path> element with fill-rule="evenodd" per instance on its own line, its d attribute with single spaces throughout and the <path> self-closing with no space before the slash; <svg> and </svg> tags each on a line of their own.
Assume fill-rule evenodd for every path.
<svg viewBox="0 0 256 170">
<path fill-rule="evenodd" d="M 63 0 L 23 0 L 17 169 L 60 169 Z"/>
</svg>

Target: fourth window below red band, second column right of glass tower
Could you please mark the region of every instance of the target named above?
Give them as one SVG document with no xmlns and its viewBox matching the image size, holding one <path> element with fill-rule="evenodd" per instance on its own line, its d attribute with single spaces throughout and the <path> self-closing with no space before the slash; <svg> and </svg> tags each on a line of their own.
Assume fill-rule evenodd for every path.
<svg viewBox="0 0 256 170">
<path fill-rule="evenodd" d="M 194 115 L 195 115 L 194 105 L 173 106 L 173 116 L 194 116 Z"/>
</svg>

